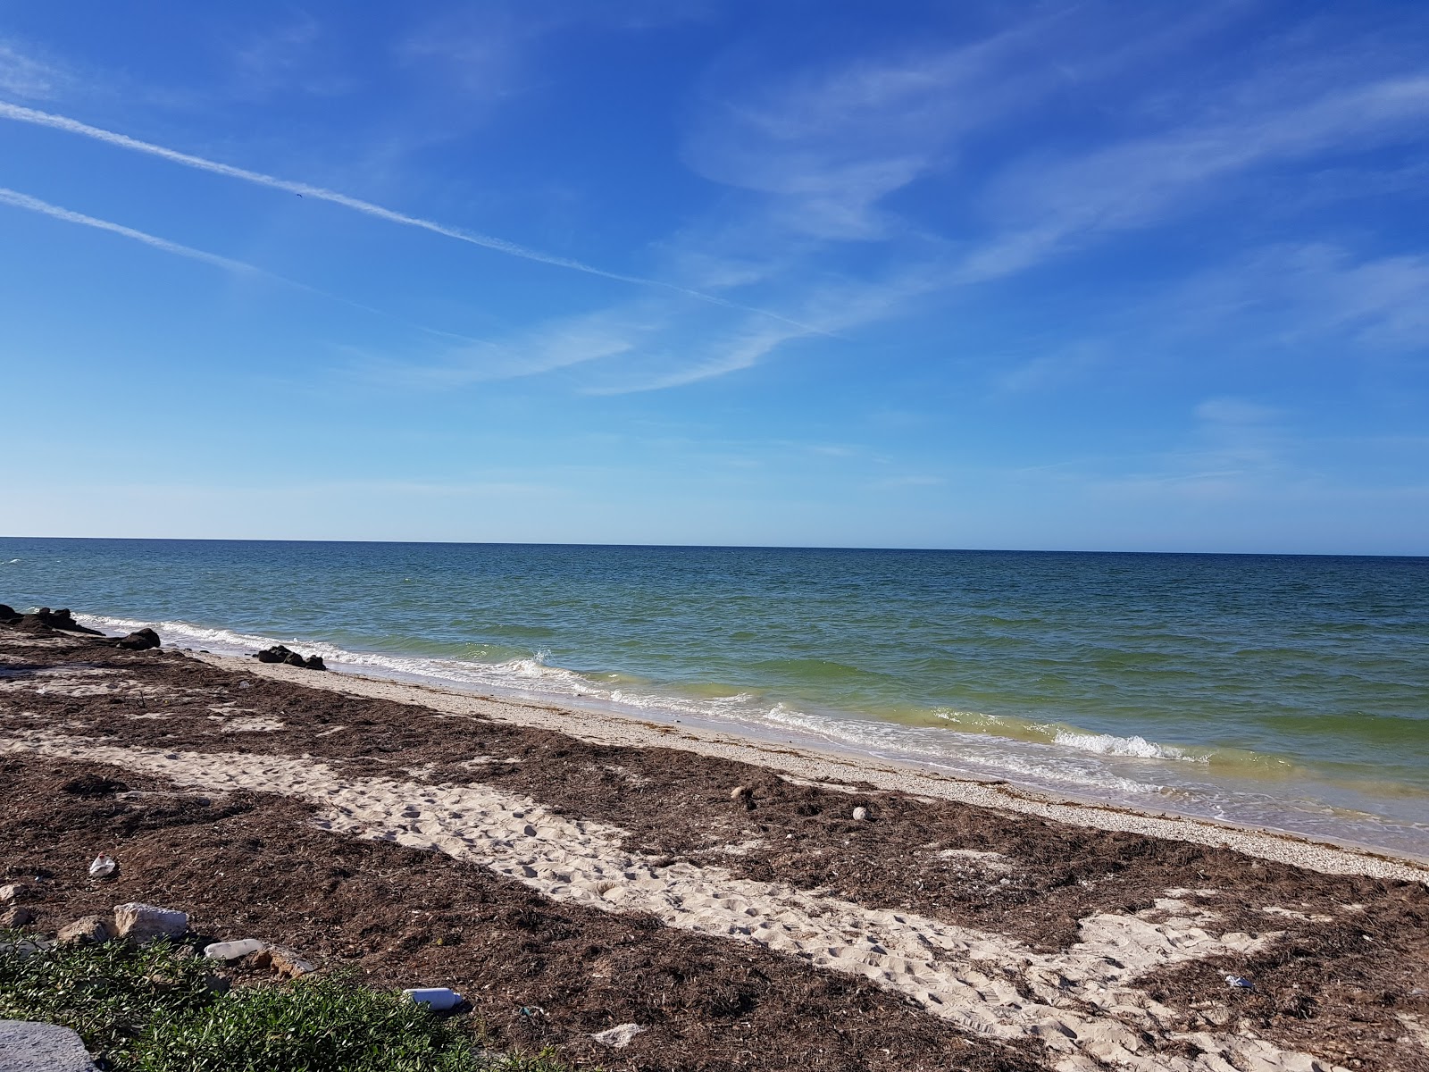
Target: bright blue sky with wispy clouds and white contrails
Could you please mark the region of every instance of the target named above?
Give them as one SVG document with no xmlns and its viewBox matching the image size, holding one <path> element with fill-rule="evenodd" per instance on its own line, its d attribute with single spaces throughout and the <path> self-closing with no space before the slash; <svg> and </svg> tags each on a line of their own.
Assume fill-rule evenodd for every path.
<svg viewBox="0 0 1429 1072">
<path fill-rule="evenodd" d="M 1429 553 L 1422 3 L 0 3 L 0 532 Z"/>
</svg>

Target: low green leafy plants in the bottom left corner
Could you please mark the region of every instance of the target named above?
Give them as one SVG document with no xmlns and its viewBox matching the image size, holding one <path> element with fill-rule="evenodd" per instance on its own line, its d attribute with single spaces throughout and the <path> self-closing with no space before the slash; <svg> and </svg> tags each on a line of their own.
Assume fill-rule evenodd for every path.
<svg viewBox="0 0 1429 1072">
<path fill-rule="evenodd" d="M 216 995 L 210 968 L 164 943 L 0 952 L 0 1019 L 73 1028 L 116 1072 L 569 1072 L 549 1055 L 493 1055 L 470 1018 L 350 978 Z"/>
</svg>

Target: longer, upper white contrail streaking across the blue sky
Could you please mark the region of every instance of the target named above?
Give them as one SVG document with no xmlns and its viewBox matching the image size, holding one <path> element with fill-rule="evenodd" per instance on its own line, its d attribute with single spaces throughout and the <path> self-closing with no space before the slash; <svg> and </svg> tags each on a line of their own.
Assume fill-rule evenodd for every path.
<svg viewBox="0 0 1429 1072">
<path fill-rule="evenodd" d="M 366 216 L 376 216 L 379 220 L 387 220 L 390 223 L 402 223 L 407 227 L 420 227 L 422 230 L 429 230 L 434 234 L 443 234 L 449 239 L 456 239 L 457 242 L 467 242 L 473 246 L 482 246 L 483 249 L 496 250 L 497 253 L 506 253 L 512 257 L 523 257 L 526 260 L 534 260 L 540 264 L 552 264 L 554 267 L 570 269 L 572 272 L 584 272 L 590 276 L 600 276 L 602 279 L 613 279 L 620 283 L 634 283 L 637 286 L 660 287 L 663 290 L 673 290 L 677 294 L 684 294 L 686 297 L 693 297 L 700 302 L 709 302 L 710 304 L 725 306 L 726 309 L 737 309 L 745 313 L 757 313 L 760 316 L 767 316 L 775 320 L 782 320 L 783 323 L 793 324 L 795 327 L 803 329 L 805 332 L 813 332 L 816 334 L 827 334 L 820 327 L 812 324 L 805 324 L 797 320 L 790 320 L 779 313 L 772 313 L 767 309 L 756 309 L 753 306 L 745 306 L 739 302 L 730 302 L 727 299 L 719 297 L 716 294 L 706 294 L 702 290 L 690 290 L 689 287 L 682 287 L 674 283 L 666 283 L 659 279 L 644 279 L 643 276 L 624 276 L 619 272 L 606 272 L 604 269 L 597 269 L 593 264 L 586 264 L 580 260 L 572 260 L 569 257 L 556 257 L 549 253 L 542 253 L 539 250 L 526 249 L 524 246 L 517 246 L 514 242 L 506 242 L 504 239 L 496 239 L 489 234 L 479 234 L 476 232 L 460 230 L 457 227 L 449 227 L 444 223 L 436 223 L 433 220 L 424 220 L 420 216 L 407 216 L 406 213 L 393 212 L 392 209 L 384 209 L 380 204 L 373 204 L 372 202 L 364 202 L 357 197 L 349 197 L 344 193 L 337 193 L 336 190 L 327 190 L 322 186 L 310 186 L 307 183 L 294 183 L 287 179 L 279 179 L 272 174 L 263 174 L 262 172 L 250 172 L 246 167 L 234 167 L 233 164 L 223 164 L 217 160 L 206 160 L 201 156 L 190 156 L 189 153 L 180 153 L 176 149 L 166 149 L 164 146 L 156 146 L 151 142 L 140 142 L 139 139 L 129 137 L 127 134 L 117 134 L 113 130 L 103 130 L 101 127 L 91 127 L 89 123 L 80 123 L 77 119 L 69 119 L 67 116 L 56 116 L 49 111 L 39 111 L 36 109 L 21 107 L 19 104 L 10 104 L 7 101 L 0 101 L 0 119 L 13 119 L 17 123 L 31 123 L 33 126 L 50 127 L 51 130 L 64 130 L 70 134 L 80 134 L 81 137 L 90 137 L 96 142 L 104 142 L 106 144 L 119 146 L 120 149 L 131 149 L 136 153 L 147 153 L 149 156 L 157 156 L 161 160 L 170 160 L 176 164 L 183 164 L 184 167 L 196 167 L 200 172 L 211 172 L 213 174 L 223 174 L 230 179 L 240 179 L 246 183 L 253 183 L 256 186 L 267 186 L 273 190 L 286 190 L 287 193 L 302 194 L 303 197 L 312 197 L 320 202 L 332 202 L 333 204 L 342 204 L 353 212 L 360 212 Z"/>
</svg>

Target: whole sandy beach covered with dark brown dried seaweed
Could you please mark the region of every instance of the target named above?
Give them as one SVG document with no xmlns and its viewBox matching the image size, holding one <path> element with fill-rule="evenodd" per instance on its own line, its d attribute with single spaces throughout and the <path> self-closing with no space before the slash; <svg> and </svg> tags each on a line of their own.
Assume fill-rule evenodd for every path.
<svg viewBox="0 0 1429 1072">
<path fill-rule="evenodd" d="M 1429 1066 L 1410 859 L 44 629 L 0 788 L 37 928 L 173 903 L 610 1069 Z"/>
</svg>

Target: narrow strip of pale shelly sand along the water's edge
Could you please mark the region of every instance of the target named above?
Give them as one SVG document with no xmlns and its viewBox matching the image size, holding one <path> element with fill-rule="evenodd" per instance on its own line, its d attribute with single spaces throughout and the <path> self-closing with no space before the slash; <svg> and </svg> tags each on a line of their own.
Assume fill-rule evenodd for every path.
<svg viewBox="0 0 1429 1072">
<path fill-rule="evenodd" d="M 779 745 L 735 730 L 686 725 L 682 719 L 669 723 L 653 722 L 614 710 L 600 710 L 594 706 L 562 708 L 557 703 L 496 696 L 454 686 L 356 673 L 346 669 L 330 670 L 324 675 L 292 666 L 260 663 L 244 656 L 194 652 L 183 652 L 183 655 L 211 666 L 246 670 L 293 685 L 413 706 L 429 706 L 454 715 L 479 713 L 483 718 L 557 730 L 593 743 L 623 748 L 680 748 L 700 755 L 785 770 L 822 785 L 865 782 L 885 792 L 906 792 L 979 808 L 997 808 L 1075 826 L 1230 848 L 1260 859 L 1310 868 L 1329 875 L 1358 873 L 1429 883 L 1429 858 L 1396 853 L 1349 840 L 1315 839 L 1289 830 L 1177 815 L 1170 810 L 1139 810 L 1073 795 L 1023 789 L 1005 779 L 985 780 L 942 775 L 920 770 L 912 762 L 882 760 L 875 756 L 835 749 L 825 750 L 807 743 Z"/>
</svg>

